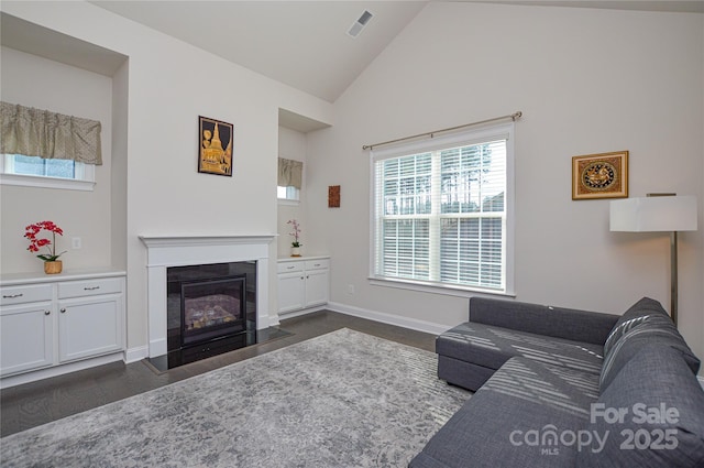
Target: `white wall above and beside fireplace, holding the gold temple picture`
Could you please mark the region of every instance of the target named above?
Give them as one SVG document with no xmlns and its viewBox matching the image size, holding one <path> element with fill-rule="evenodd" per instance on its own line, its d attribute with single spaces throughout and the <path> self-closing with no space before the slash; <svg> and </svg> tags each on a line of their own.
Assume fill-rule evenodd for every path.
<svg viewBox="0 0 704 468">
<path fill-rule="evenodd" d="M 127 151 L 120 196 L 127 204 L 128 347 L 144 349 L 146 250 L 139 236 L 275 235 L 278 109 L 331 123 L 332 107 L 87 2 L 3 2 L 2 9 L 129 57 L 118 73 L 129 84 L 116 91 L 128 99 L 120 135 Z M 197 172 L 198 116 L 234 124 L 232 177 Z M 273 309 L 276 253 L 273 242 Z"/>
</svg>

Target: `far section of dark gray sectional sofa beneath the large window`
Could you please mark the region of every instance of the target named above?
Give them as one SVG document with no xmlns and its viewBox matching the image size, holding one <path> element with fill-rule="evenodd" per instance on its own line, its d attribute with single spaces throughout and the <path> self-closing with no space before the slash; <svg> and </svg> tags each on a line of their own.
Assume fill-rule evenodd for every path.
<svg viewBox="0 0 704 468">
<path fill-rule="evenodd" d="M 492 369 L 515 356 L 600 373 L 603 345 L 617 319 L 596 312 L 472 297 L 470 322 L 436 340 L 438 377 L 475 391 Z M 570 333 L 583 339 L 570 338 Z"/>
</svg>

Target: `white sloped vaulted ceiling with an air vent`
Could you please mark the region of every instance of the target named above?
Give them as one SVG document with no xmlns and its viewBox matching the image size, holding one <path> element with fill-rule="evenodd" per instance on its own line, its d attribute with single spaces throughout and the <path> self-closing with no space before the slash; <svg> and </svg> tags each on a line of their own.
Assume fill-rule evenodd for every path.
<svg viewBox="0 0 704 468">
<path fill-rule="evenodd" d="M 704 12 L 704 0 L 460 1 Z M 429 1 L 92 3 L 333 102 Z M 350 36 L 364 11 L 373 17 Z"/>
</svg>

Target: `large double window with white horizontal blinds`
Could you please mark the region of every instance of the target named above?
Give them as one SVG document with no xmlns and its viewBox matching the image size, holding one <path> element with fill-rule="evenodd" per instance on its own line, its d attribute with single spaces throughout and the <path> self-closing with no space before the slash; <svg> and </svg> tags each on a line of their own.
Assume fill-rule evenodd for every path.
<svg viewBox="0 0 704 468">
<path fill-rule="evenodd" d="M 373 279 L 512 292 L 513 129 L 373 152 Z"/>
</svg>

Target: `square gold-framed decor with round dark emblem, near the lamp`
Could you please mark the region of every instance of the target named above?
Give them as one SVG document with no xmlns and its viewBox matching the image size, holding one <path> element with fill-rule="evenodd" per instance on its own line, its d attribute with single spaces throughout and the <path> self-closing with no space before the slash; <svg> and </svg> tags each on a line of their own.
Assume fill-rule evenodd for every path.
<svg viewBox="0 0 704 468">
<path fill-rule="evenodd" d="M 627 198 L 628 151 L 572 157 L 572 199 Z"/>
</svg>

